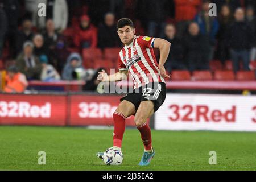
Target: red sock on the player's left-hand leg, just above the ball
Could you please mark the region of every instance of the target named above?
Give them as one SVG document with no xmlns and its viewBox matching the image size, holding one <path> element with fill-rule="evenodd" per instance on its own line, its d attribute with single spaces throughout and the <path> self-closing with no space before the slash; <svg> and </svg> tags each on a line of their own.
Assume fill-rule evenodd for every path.
<svg viewBox="0 0 256 182">
<path fill-rule="evenodd" d="M 115 111 L 113 113 L 114 133 L 113 146 L 122 147 L 123 133 L 125 133 L 125 116 Z"/>
</svg>

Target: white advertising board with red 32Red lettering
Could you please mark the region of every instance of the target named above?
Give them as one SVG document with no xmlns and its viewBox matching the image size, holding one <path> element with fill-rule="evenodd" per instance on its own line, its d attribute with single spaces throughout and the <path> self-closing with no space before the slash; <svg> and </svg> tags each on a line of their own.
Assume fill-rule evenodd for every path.
<svg viewBox="0 0 256 182">
<path fill-rule="evenodd" d="M 167 94 L 155 129 L 256 131 L 256 96 Z"/>
</svg>

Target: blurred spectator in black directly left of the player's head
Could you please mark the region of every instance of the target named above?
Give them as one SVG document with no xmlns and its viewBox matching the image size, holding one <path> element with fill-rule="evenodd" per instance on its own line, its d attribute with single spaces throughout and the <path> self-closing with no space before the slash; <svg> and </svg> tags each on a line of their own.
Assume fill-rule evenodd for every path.
<svg viewBox="0 0 256 182">
<path fill-rule="evenodd" d="M 98 27 L 98 47 L 118 47 L 120 40 L 117 35 L 117 27 L 115 26 L 115 16 L 113 13 L 105 15 L 104 23 Z"/>
</svg>

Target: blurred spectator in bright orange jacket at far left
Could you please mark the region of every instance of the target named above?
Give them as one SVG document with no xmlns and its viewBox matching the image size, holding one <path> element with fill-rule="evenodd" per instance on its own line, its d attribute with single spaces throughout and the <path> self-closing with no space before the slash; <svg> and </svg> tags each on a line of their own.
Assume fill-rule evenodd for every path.
<svg viewBox="0 0 256 182">
<path fill-rule="evenodd" d="M 6 86 L 3 89 L 7 93 L 24 92 L 28 86 L 27 78 L 18 68 L 11 66 L 7 69 Z"/>
</svg>

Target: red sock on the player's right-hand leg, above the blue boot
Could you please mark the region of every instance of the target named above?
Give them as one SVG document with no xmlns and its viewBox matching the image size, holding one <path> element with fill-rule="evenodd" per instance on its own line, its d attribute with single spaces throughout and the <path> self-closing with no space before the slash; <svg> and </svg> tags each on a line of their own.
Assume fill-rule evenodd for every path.
<svg viewBox="0 0 256 182">
<path fill-rule="evenodd" d="M 137 126 L 139 132 L 141 132 L 141 139 L 144 144 L 145 150 L 151 150 L 152 148 L 152 139 L 151 139 L 151 130 L 147 123 L 144 123 L 141 126 Z"/>
</svg>

